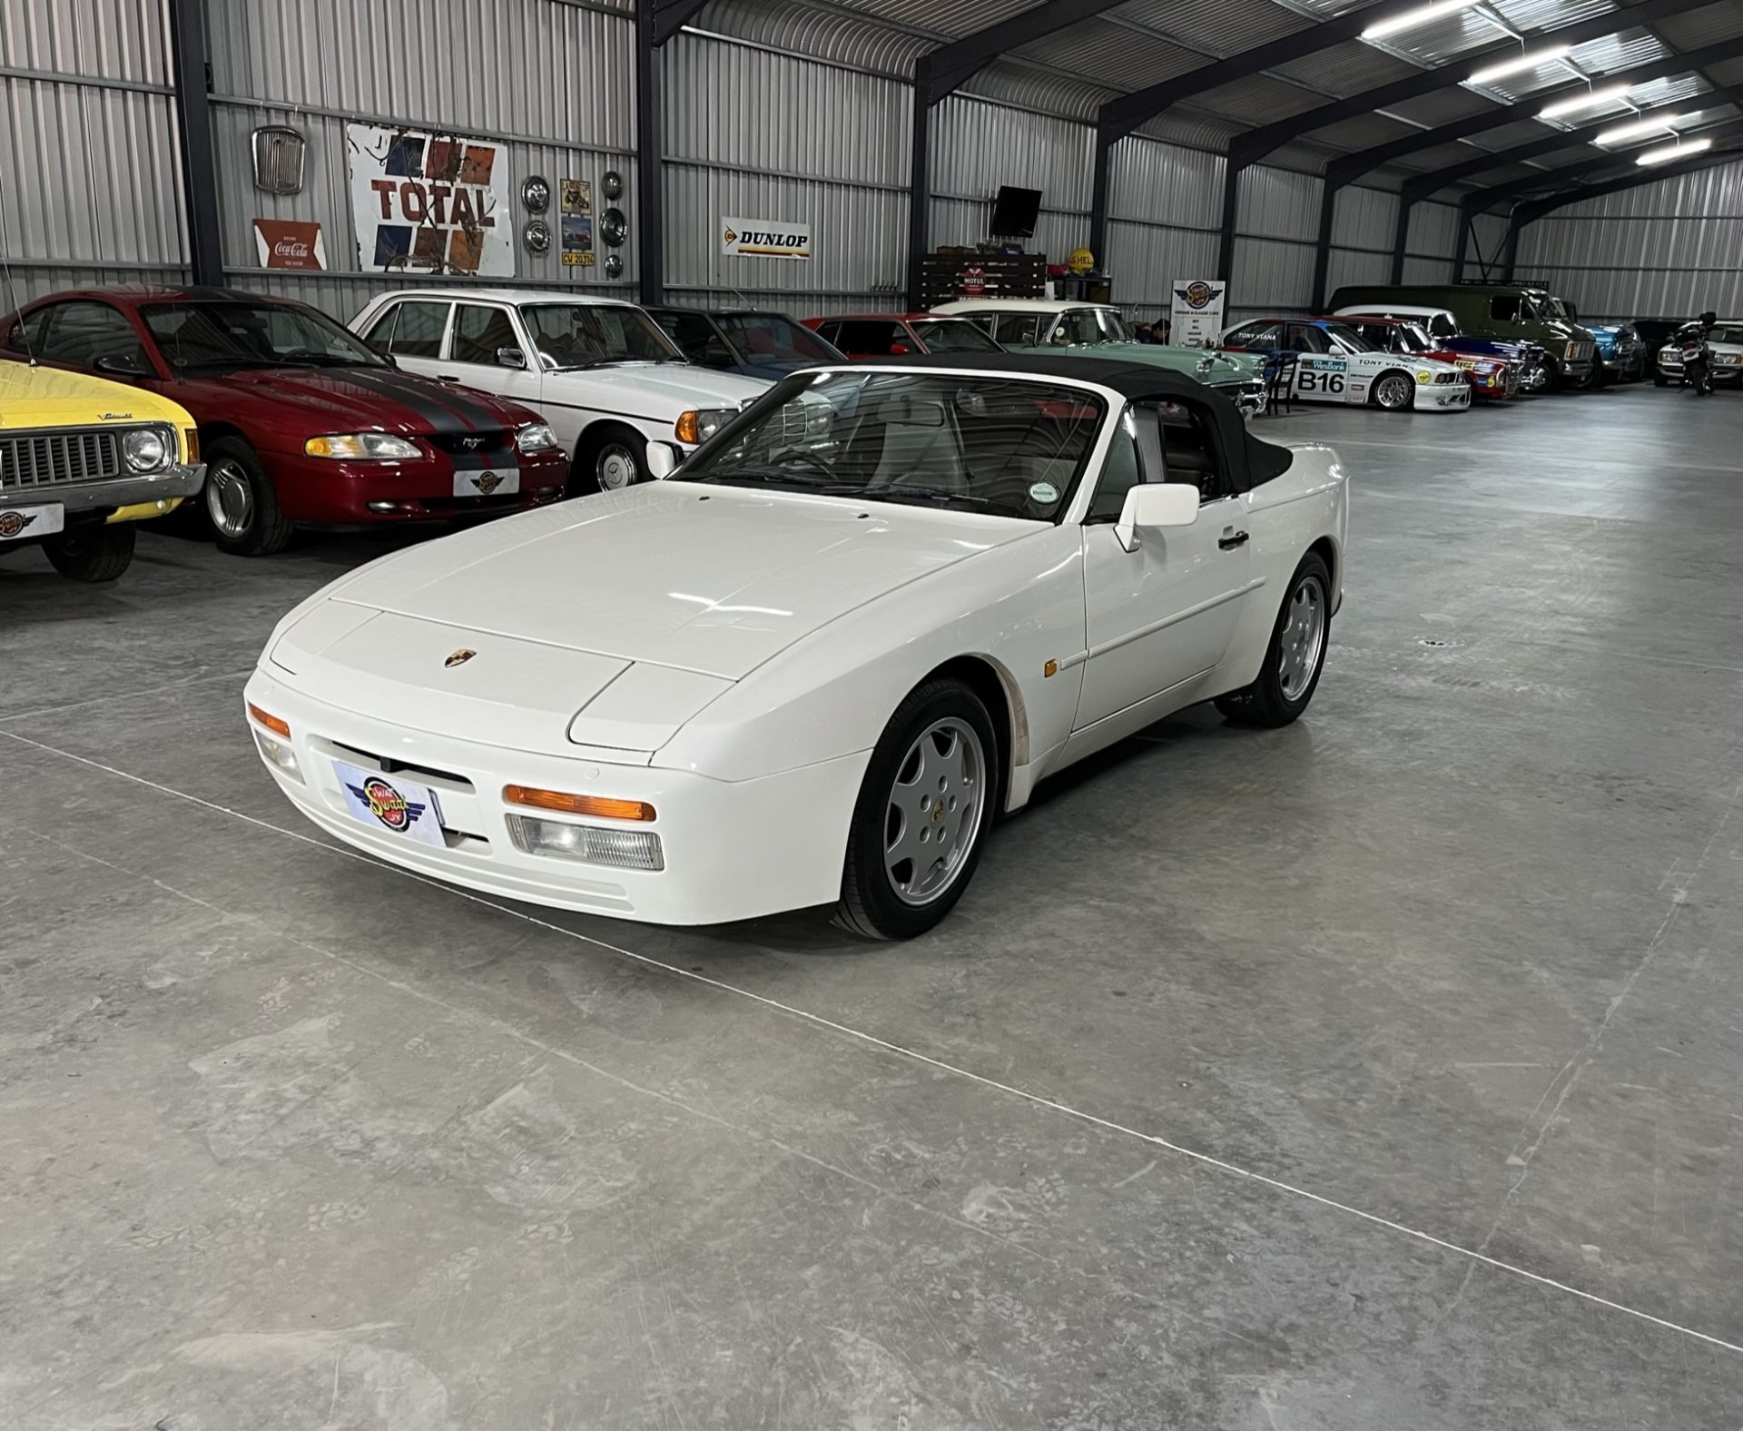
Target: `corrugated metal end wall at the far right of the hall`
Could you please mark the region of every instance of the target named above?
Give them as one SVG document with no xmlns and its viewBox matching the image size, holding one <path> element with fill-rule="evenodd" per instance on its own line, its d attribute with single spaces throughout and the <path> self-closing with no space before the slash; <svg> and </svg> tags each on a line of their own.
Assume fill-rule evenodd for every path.
<svg viewBox="0 0 1743 1431">
<path fill-rule="evenodd" d="M 1743 312 L 1743 164 L 1570 204 L 1520 234 L 1518 272 L 1586 317 Z"/>
</svg>

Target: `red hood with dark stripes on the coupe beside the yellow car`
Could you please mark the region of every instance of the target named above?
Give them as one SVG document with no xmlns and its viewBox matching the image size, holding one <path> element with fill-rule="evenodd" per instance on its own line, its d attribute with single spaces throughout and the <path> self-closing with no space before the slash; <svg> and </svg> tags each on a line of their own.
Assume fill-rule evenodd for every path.
<svg viewBox="0 0 1743 1431">
<path fill-rule="evenodd" d="M 244 404 L 256 413 L 270 410 L 274 429 L 307 429 L 305 436 L 476 432 L 539 420 L 519 403 L 397 368 L 244 368 L 180 378 L 162 390 L 200 422 L 220 420 Z"/>
</svg>

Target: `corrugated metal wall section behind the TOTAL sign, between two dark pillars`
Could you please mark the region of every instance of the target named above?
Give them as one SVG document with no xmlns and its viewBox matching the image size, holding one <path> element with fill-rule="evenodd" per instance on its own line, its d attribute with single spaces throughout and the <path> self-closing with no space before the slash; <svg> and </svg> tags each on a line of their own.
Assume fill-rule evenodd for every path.
<svg viewBox="0 0 1743 1431">
<path fill-rule="evenodd" d="M 207 44 L 223 260 L 242 288 L 303 298 L 345 319 L 371 295 L 403 284 L 359 265 L 347 119 L 502 141 L 516 223 L 525 218 L 518 190 L 528 174 L 553 187 L 560 178 L 591 178 L 596 213 L 607 169 L 617 169 L 634 193 L 627 10 L 561 0 L 207 0 Z M 288 124 L 305 136 L 302 193 L 254 188 L 249 134 L 261 124 Z M 261 268 L 254 218 L 319 221 L 328 272 Z M 554 204 L 546 218 L 556 227 Z M 603 261 L 603 246 L 600 253 Z M 512 282 L 610 288 L 600 267 L 565 268 L 556 246 L 533 256 L 516 241 L 514 254 Z M 627 286 L 636 268 L 633 232 L 622 256 Z"/>
</svg>

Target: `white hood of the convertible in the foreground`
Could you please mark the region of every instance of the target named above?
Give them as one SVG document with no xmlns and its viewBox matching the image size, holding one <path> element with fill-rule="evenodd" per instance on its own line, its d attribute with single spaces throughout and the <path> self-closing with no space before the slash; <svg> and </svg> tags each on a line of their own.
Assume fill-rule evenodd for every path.
<svg viewBox="0 0 1743 1431">
<path fill-rule="evenodd" d="M 741 680 L 856 607 L 1041 528 L 647 483 L 413 547 L 347 580 L 333 603 Z"/>
</svg>

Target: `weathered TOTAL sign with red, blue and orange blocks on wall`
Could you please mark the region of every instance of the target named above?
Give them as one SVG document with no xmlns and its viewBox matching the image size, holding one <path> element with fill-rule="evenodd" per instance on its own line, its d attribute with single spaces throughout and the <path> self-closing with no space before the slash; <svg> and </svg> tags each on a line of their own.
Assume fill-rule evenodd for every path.
<svg viewBox="0 0 1743 1431">
<path fill-rule="evenodd" d="M 507 153 L 495 139 L 347 124 L 357 267 L 514 275 Z"/>
</svg>

